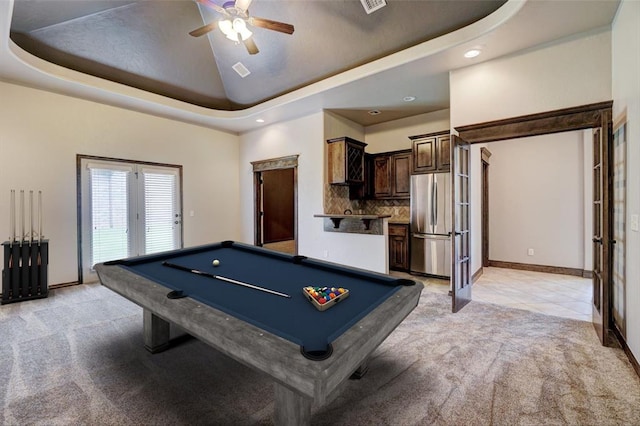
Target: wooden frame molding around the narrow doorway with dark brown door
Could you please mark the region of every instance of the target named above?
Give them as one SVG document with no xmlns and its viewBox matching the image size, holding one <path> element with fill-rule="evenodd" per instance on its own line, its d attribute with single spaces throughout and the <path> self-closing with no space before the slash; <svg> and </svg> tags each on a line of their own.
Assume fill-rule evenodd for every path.
<svg viewBox="0 0 640 426">
<path fill-rule="evenodd" d="M 267 160 L 252 161 L 253 166 L 253 242 L 262 246 L 262 222 L 260 221 L 260 206 L 262 198 L 260 192 L 260 174 L 268 170 L 293 169 L 293 238 L 295 240 L 295 252 L 298 253 L 298 157 L 300 155 L 288 155 L 285 157 L 270 158 Z"/>
</svg>

